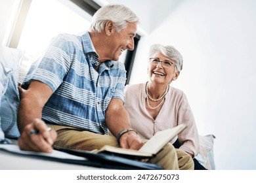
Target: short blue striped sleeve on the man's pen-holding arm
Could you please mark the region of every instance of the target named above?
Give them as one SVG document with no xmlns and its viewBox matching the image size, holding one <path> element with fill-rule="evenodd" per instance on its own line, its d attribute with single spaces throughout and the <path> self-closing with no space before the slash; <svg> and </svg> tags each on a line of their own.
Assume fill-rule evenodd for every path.
<svg viewBox="0 0 256 183">
<path fill-rule="evenodd" d="M 24 82 L 39 80 L 50 86 L 54 92 L 70 69 L 72 50 L 74 49 L 67 36 L 58 35 L 51 41 L 43 57 L 32 65 Z"/>
</svg>

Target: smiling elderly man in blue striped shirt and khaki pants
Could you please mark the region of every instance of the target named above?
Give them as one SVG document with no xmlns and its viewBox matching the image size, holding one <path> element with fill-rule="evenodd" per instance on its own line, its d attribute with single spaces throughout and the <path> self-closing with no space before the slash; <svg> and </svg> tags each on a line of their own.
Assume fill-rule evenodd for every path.
<svg viewBox="0 0 256 183">
<path fill-rule="evenodd" d="M 124 50 L 133 50 L 138 22 L 129 8 L 107 5 L 95 13 L 84 35 L 53 39 L 25 80 L 30 86 L 18 110 L 21 149 L 51 152 L 53 144 L 80 150 L 106 144 L 135 150 L 142 146 L 123 107 L 126 71 L 117 61 Z M 175 148 L 168 145 L 151 162 L 179 169 L 177 159 Z M 191 161 L 184 161 L 185 169 L 193 168 Z"/>
</svg>

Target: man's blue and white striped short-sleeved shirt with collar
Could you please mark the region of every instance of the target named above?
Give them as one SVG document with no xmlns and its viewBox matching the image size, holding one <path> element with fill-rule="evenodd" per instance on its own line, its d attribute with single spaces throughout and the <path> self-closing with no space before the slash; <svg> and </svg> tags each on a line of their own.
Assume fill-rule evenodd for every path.
<svg viewBox="0 0 256 183">
<path fill-rule="evenodd" d="M 43 120 L 108 134 L 106 109 L 112 98 L 124 99 L 126 71 L 119 61 L 104 61 L 88 32 L 55 37 L 45 55 L 32 65 L 24 82 L 39 80 L 53 90 L 43 107 Z"/>
</svg>

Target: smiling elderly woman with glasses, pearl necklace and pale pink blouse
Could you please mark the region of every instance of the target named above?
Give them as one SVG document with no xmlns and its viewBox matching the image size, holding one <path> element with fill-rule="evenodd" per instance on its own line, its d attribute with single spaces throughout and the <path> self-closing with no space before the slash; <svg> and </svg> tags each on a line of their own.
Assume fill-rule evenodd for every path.
<svg viewBox="0 0 256 183">
<path fill-rule="evenodd" d="M 150 139 L 163 129 L 186 124 L 186 129 L 171 144 L 195 158 L 199 151 L 199 137 L 192 110 L 186 95 L 170 85 L 177 80 L 181 69 L 182 56 L 178 50 L 173 46 L 152 45 L 149 80 L 126 86 L 125 108 L 131 125 L 142 139 Z M 194 163 L 195 169 L 205 169 L 196 159 Z"/>
</svg>

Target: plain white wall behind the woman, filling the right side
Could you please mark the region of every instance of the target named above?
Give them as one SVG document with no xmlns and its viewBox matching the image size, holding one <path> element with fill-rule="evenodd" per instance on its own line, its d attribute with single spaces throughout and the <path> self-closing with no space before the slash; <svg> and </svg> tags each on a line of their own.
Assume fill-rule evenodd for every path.
<svg viewBox="0 0 256 183">
<path fill-rule="evenodd" d="M 142 37 L 135 58 L 130 84 L 148 79 L 150 44 L 181 52 L 184 69 L 173 86 L 186 93 L 200 134 L 216 136 L 217 169 L 256 169 L 255 10 L 253 0 L 184 0 Z"/>
</svg>

